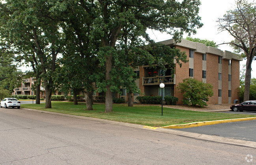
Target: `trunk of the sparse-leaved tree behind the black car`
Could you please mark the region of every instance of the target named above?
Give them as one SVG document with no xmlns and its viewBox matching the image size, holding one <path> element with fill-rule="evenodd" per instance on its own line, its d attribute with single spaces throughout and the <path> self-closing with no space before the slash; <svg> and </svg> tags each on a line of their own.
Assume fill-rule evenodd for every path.
<svg viewBox="0 0 256 165">
<path fill-rule="evenodd" d="M 250 96 L 250 79 L 251 79 L 251 71 L 252 71 L 252 58 L 247 57 L 246 62 L 246 72 L 245 72 L 245 93 L 243 95 L 243 101 L 249 100 Z"/>
</svg>

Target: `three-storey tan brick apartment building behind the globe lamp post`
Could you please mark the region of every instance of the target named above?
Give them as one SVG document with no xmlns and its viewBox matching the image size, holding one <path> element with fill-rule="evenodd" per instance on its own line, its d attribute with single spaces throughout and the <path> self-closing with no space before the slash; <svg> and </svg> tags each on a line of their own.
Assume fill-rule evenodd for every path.
<svg viewBox="0 0 256 165">
<path fill-rule="evenodd" d="M 181 68 L 176 64 L 173 78 L 170 72 L 172 68 L 168 68 L 166 71 L 159 68 L 153 69 L 149 66 L 136 68 L 135 72 L 139 75 L 136 84 L 142 93 L 159 96 L 161 95 L 159 84 L 164 83 L 163 96 L 178 97 L 178 104 L 181 105 L 183 94 L 177 90 L 177 86 L 183 79 L 191 77 L 213 85 L 214 94 L 209 98 L 208 104 L 234 103 L 234 100 L 238 99 L 237 88 L 239 88 L 239 61 L 242 61 L 241 57 L 229 51 L 221 51 L 205 44 L 184 39 L 180 43 L 176 43 L 174 39 L 165 40 L 161 43 L 185 51 L 189 62 L 182 63 Z M 138 94 L 133 96 L 135 102 L 137 96 Z"/>
</svg>

